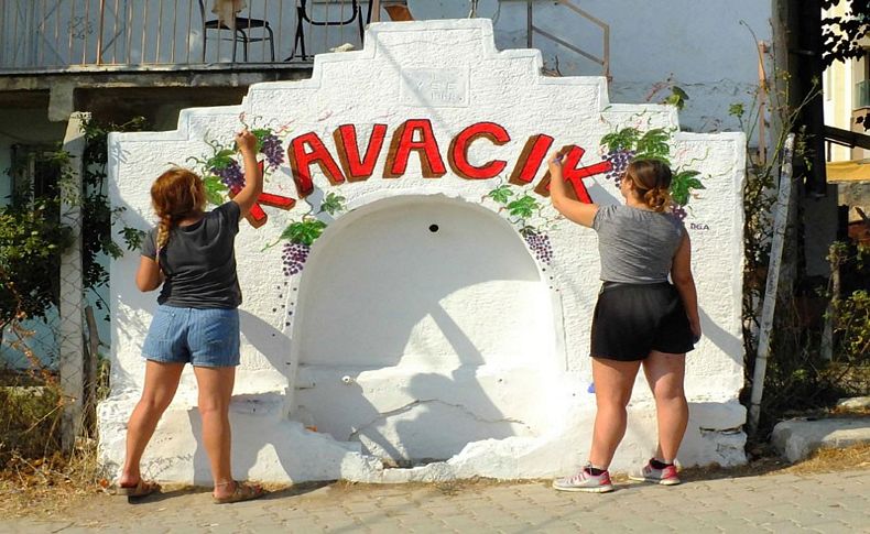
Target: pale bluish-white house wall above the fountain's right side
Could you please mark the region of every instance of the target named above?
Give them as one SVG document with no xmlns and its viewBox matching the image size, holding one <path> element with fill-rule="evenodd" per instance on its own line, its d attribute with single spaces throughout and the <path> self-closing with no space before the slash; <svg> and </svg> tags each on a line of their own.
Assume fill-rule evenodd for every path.
<svg viewBox="0 0 870 534">
<path fill-rule="evenodd" d="M 478 17 L 491 18 L 499 48 L 526 46 L 524 0 L 480 0 Z M 773 2 L 760 0 L 583 0 L 583 10 L 610 26 L 610 101 L 661 102 L 670 89 L 652 94 L 656 84 L 672 83 L 689 96 L 679 113 L 684 130 L 709 132 L 738 130 L 728 115 L 731 103 L 752 102 L 759 84 L 758 50 L 752 33 L 770 44 Z M 421 20 L 468 15 L 469 2 L 409 0 Z M 601 31 L 588 20 L 556 2 L 535 2 L 535 24 L 545 31 L 603 55 Z M 750 32 L 751 30 L 751 32 Z M 535 36 L 545 64 L 566 76 L 597 76 L 600 67 L 545 37 Z M 769 76 L 772 65 L 768 64 Z"/>
</svg>

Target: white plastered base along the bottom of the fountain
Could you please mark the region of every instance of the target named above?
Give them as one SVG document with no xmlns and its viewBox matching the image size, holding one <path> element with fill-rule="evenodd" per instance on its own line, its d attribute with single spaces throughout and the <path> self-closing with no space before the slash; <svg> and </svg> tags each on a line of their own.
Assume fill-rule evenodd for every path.
<svg viewBox="0 0 870 534">
<path fill-rule="evenodd" d="M 566 411 L 570 424 L 544 436 L 509 437 L 469 443 L 445 461 L 407 469 L 385 469 L 380 458 L 363 454 L 360 443 L 338 442 L 311 432 L 285 415 L 279 392 L 236 395 L 230 407 L 233 477 L 272 483 L 345 479 L 358 482 L 435 482 L 485 477 L 493 479 L 552 478 L 583 465 L 595 413 L 587 407 Z M 142 459 L 142 472 L 163 482 L 211 483 L 203 448 L 202 423 L 192 399 L 180 397 L 166 411 Z M 111 476 L 120 473 L 124 457 L 126 421 L 135 400 L 100 404 L 100 460 Z M 629 429 L 611 470 L 627 471 L 643 464 L 655 448 L 655 413 L 648 402 L 629 407 Z M 690 403 L 689 425 L 679 453 L 684 467 L 746 462 L 743 406 Z M 561 418 L 561 417 L 559 417 Z M 718 421 L 717 428 L 699 421 Z M 554 422 L 557 424 L 558 422 Z"/>
</svg>

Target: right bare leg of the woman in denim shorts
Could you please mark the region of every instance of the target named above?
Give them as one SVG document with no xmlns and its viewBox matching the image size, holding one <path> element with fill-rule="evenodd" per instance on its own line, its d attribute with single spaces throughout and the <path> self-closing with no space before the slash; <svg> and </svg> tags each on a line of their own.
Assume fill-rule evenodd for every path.
<svg viewBox="0 0 870 534">
<path fill-rule="evenodd" d="M 199 416 L 203 418 L 203 444 L 211 464 L 215 497 L 231 494 L 230 468 L 231 433 L 229 427 L 229 403 L 236 383 L 235 367 L 194 367 L 199 386 Z"/>
</svg>

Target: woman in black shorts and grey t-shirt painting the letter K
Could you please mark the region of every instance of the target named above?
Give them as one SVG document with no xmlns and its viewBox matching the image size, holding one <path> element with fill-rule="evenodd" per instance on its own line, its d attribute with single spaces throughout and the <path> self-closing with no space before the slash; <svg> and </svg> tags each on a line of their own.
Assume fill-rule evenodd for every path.
<svg viewBox="0 0 870 534">
<path fill-rule="evenodd" d="M 626 204 L 599 207 L 567 196 L 558 154 L 548 165 L 553 206 L 598 232 L 603 282 L 591 328 L 597 412 L 588 462 L 553 487 L 613 490 L 608 467 L 626 434 L 626 407 L 641 367 L 655 399 L 659 444 L 631 478 L 677 484 L 674 460 L 688 422 L 685 356 L 700 338 L 700 320 L 688 233 L 670 214 L 671 170 L 656 160 L 632 162 L 619 185 Z"/>
</svg>

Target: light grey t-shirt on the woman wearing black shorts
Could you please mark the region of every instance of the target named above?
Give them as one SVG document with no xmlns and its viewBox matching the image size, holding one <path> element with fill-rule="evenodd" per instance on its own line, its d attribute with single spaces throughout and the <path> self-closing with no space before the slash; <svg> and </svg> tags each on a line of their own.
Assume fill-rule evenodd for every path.
<svg viewBox="0 0 870 534">
<path fill-rule="evenodd" d="M 627 284 L 666 282 L 686 229 L 671 214 L 622 204 L 602 206 L 595 214 L 601 280 Z"/>
</svg>

